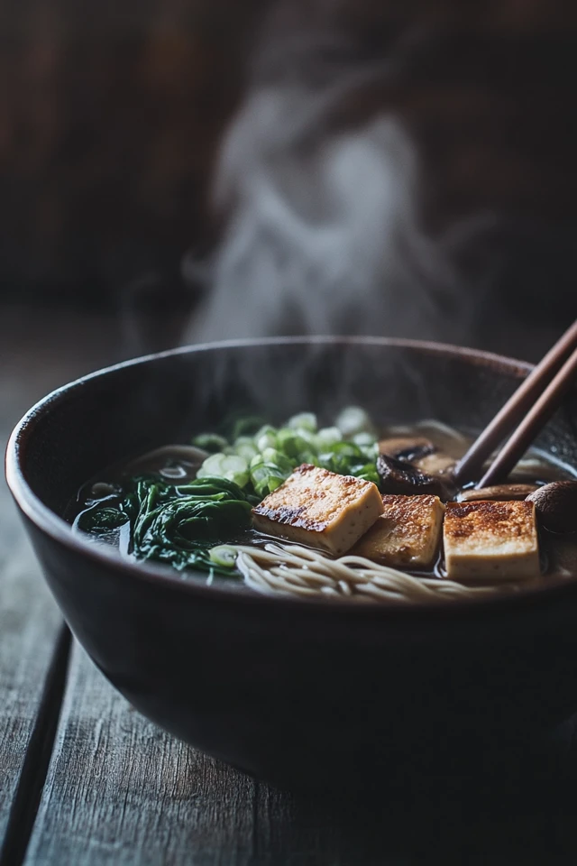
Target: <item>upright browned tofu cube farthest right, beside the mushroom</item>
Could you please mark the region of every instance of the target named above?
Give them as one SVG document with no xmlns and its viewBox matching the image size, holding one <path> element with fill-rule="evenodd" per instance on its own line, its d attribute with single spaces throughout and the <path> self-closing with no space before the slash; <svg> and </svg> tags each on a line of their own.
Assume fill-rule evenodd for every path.
<svg viewBox="0 0 577 866">
<path fill-rule="evenodd" d="M 449 502 L 444 516 L 447 576 L 463 584 L 530 580 L 540 574 L 533 502 Z"/>
</svg>

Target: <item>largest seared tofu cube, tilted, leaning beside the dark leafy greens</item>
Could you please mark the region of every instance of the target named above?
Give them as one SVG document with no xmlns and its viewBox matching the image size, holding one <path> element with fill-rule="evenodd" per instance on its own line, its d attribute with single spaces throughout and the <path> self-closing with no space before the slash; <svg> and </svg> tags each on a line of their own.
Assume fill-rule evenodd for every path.
<svg viewBox="0 0 577 866">
<path fill-rule="evenodd" d="M 304 464 L 252 509 L 252 517 L 260 532 L 338 557 L 353 547 L 382 511 L 376 484 Z"/>
</svg>

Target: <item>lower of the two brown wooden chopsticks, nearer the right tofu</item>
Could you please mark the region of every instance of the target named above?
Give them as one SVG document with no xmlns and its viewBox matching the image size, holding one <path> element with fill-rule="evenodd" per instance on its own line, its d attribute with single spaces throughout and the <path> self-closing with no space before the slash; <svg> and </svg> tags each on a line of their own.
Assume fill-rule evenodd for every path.
<svg viewBox="0 0 577 866">
<path fill-rule="evenodd" d="M 545 427 L 547 421 L 558 408 L 564 393 L 574 381 L 576 374 L 577 349 L 565 361 L 561 370 L 545 388 L 533 408 L 527 412 L 511 438 L 508 439 L 507 445 L 502 448 L 479 484 L 476 485 L 478 488 L 489 487 L 490 484 L 500 484 L 507 479 L 518 460 L 525 454 L 537 434 Z"/>
</svg>

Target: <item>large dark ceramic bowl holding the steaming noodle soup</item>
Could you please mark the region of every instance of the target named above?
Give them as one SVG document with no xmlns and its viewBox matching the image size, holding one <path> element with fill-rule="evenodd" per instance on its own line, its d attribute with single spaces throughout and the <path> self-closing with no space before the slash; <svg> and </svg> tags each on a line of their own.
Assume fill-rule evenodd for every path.
<svg viewBox="0 0 577 866">
<path fill-rule="evenodd" d="M 78 487 L 215 427 L 360 403 L 381 422 L 481 428 L 528 366 L 443 345 L 281 339 L 200 346 L 87 376 L 14 430 L 7 477 L 71 630 L 143 714 L 281 784 L 366 782 L 481 762 L 577 709 L 577 581 L 432 607 L 207 587 L 73 535 Z M 572 393 L 541 447 L 577 465 Z M 383 777 L 384 770 L 384 777 Z"/>
</svg>

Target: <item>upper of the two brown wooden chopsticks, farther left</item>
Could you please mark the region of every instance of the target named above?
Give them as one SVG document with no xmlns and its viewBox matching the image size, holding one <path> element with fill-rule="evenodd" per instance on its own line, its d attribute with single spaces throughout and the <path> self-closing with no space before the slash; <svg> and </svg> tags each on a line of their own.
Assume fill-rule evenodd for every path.
<svg viewBox="0 0 577 866">
<path fill-rule="evenodd" d="M 577 320 L 529 373 L 527 379 L 519 385 L 513 396 L 482 431 L 481 436 L 475 439 L 455 468 L 454 479 L 457 484 L 465 484 L 479 477 L 485 460 L 523 419 L 525 413 L 575 348 L 577 348 Z"/>
</svg>

